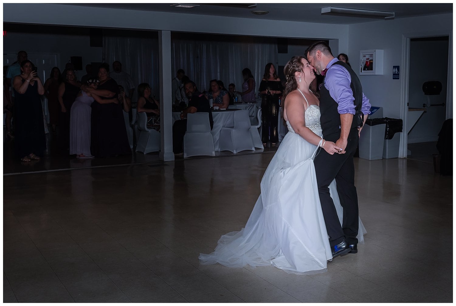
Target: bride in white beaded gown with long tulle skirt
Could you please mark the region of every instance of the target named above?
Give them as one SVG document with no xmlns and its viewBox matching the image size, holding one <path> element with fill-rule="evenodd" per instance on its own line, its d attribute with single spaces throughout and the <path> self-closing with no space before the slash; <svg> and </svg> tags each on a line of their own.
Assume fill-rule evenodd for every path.
<svg viewBox="0 0 456 306">
<path fill-rule="evenodd" d="M 261 194 L 244 229 L 223 235 L 211 254 L 200 254 L 202 265 L 274 265 L 288 273 L 314 274 L 325 272 L 332 260 L 313 158 L 321 149 L 334 154 L 340 148 L 321 137 L 319 101 L 309 89 L 315 79 L 312 66 L 294 56 L 284 73 L 284 119 L 290 133 L 264 173 Z M 335 182 L 329 187 L 342 221 Z M 363 243 L 365 230 L 359 223 L 357 238 Z"/>
</svg>

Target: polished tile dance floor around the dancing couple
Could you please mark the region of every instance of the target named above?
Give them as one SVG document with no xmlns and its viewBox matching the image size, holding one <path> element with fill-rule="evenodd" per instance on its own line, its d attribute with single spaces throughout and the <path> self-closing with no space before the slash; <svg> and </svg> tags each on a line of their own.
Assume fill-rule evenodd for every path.
<svg viewBox="0 0 456 306">
<path fill-rule="evenodd" d="M 326 273 L 200 266 L 244 226 L 273 154 L 5 163 L 23 174 L 3 177 L 3 301 L 453 301 L 452 177 L 415 160 L 355 158 L 366 244 Z"/>
</svg>

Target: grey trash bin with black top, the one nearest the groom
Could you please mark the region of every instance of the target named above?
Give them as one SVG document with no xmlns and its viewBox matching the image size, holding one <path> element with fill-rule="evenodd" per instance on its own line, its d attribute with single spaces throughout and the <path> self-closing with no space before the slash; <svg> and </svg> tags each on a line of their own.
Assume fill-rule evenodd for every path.
<svg viewBox="0 0 456 306">
<path fill-rule="evenodd" d="M 383 158 L 383 144 L 385 138 L 384 118 L 366 120 L 361 137 L 359 138 L 359 157 L 376 160 Z"/>
</svg>

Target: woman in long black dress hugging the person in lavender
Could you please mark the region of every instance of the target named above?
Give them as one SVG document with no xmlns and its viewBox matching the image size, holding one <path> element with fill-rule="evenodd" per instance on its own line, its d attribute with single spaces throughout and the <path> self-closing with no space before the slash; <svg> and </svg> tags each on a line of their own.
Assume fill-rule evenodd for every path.
<svg viewBox="0 0 456 306">
<path fill-rule="evenodd" d="M 83 86 L 88 93 L 101 97 L 92 103 L 92 129 L 90 152 L 95 157 L 111 157 L 131 154 L 125 128 L 123 104 L 119 103 L 119 86 L 109 77 L 109 65 L 104 63 L 98 69 L 97 89 Z"/>
</svg>

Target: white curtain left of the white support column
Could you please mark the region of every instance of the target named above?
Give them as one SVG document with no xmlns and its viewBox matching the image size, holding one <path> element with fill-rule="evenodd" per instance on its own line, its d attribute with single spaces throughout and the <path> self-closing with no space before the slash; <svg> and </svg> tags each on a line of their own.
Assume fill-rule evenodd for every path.
<svg viewBox="0 0 456 306">
<path fill-rule="evenodd" d="M 160 97 L 159 66 L 158 66 L 158 37 L 156 32 L 133 32 L 121 30 L 104 30 L 103 59 L 112 70 L 113 61 L 122 63 L 122 71 L 130 74 L 135 93 L 132 103 L 138 99 L 137 87 L 140 83 L 150 85 L 152 96 Z"/>
</svg>

